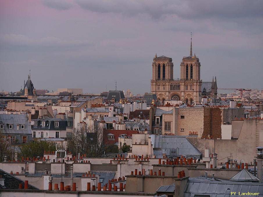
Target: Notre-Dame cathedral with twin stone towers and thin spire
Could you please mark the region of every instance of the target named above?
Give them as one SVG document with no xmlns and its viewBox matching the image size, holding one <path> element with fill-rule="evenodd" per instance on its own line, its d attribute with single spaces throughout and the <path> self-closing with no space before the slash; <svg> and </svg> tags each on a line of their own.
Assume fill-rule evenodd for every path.
<svg viewBox="0 0 263 197">
<path fill-rule="evenodd" d="M 165 100 L 183 101 L 186 104 L 201 104 L 201 98 L 217 98 L 217 79 L 212 82 L 202 82 L 200 79 L 200 61 L 192 55 L 192 38 L 190 56 L 183 57 L 181 76 L 173 79 L 172 58 L 166 56 L 153 58 L 153 78 L 151 92 L 157 95 L 161 102 Z"/>
</svg>

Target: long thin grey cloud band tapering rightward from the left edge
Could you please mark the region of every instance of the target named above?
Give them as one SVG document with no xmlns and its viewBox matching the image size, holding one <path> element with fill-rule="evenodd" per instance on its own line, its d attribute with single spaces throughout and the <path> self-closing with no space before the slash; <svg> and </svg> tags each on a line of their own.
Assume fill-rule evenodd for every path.
<svg viewBox="0 0 263 197">
<path fill-rule="evenodd" d="M 83 47 L 92 45 L 88 41 L 67 41 L 61 40 L 55 37 L 44 37 L 40 39 L 31 39 L 21 34 L 1 34 L 0 35 L 0 46 L 1 48 L 6 47 L 48 47 L 48 48 L 63 48 L 63 47 Z"/>
</svg>

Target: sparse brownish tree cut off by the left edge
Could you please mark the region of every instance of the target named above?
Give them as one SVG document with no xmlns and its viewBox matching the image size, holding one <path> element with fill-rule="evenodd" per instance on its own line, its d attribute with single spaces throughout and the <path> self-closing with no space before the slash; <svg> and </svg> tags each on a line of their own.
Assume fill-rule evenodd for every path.
<svg viewBox="0 0 263 197">
<path fill-rule="evenodd" d="M 5 156 L 10 160 L 15 159 L 15 149 L 12 147 L 11 139 L 3 138 L 0 132 L 0 161 L 3 161 Z"/>
</svg>

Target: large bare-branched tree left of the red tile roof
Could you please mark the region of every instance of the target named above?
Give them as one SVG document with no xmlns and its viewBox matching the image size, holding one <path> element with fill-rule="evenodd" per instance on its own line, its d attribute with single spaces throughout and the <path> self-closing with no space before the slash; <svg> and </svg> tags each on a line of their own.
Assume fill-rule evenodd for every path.
<svg viewBox="0 0 263 197">
<path fill-rule="evenodd" d="M 73 154 L 87 154 L 87 157 L 101 157 L 104 154 L 103 127 L 83 124 L 74 130 L 68 148 Z"/>
</svg>

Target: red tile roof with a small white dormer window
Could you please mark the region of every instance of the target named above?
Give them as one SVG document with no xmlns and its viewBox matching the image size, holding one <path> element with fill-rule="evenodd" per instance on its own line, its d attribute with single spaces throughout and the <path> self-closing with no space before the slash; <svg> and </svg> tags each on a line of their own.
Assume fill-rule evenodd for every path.
<svg viewBox="0 0 263 197">
<path fill-rule="evenodd" d="M 103 130 L 103 143 L 104 144 L 115 144 L 118 143 L 119 141 L 119 136 L 121 134 L 126 134 L 127 136 L 132 137 L 133 134 L 139 133 L 138 131 L 129 131 L 129 130 L 108 130 L 104 129 Z M 108 139 L 108 134 L 113 134 L 114 135 L 114 140 L 109 140 Z"/>
</svg>

